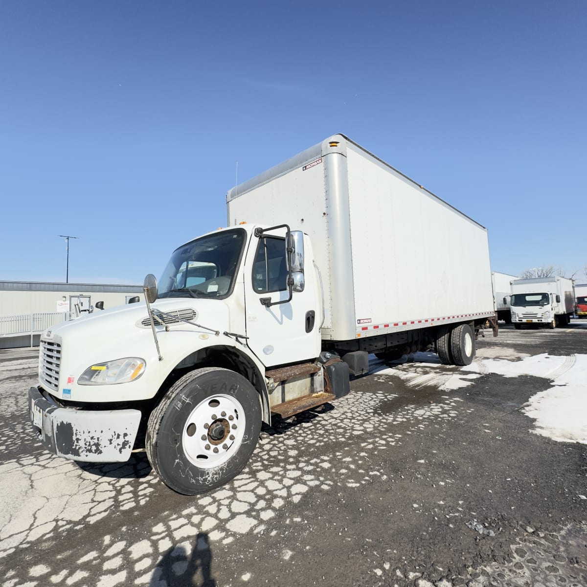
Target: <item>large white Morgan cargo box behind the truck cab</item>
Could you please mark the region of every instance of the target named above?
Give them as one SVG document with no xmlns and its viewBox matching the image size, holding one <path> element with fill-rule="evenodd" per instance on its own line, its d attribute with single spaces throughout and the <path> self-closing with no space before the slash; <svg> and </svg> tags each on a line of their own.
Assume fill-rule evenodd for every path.
<svg viewBox="0 0 587 587">
<path fill-rule="evenodd" d="M 227 214 L 311 237 L 323 339 L 494 316 L 487 230 L 342 134 L 233 188 Z"/>
</svg>

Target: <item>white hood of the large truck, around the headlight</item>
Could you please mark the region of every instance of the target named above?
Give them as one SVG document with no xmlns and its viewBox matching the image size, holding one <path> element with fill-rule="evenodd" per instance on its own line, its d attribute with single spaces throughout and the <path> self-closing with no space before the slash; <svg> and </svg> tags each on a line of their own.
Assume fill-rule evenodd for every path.
<svg viewBox="0 0 587 587">
<path fill-rule="evenodd" d="M 161 316 L 161 320 L 168 323 L 156 326 L 163 357 L 160 360 L 144 303 L 95 311 L 54 326 L 45 332 L 42 341 L 59 345 L 59 389 L 53 389 L 55 395 L 78 401 L 97 401 L 98 397 L 101 401 L 120 400 L 122 397 L 130 399 L 136 397 L 141 386 L 140 379 L 114 386 L 80 386 L 77 380 L 92 365 L 139 357 L 146 361 L 146 372 L 150 373 L 151 382 L 160 383 L 189 352 L 229 340 L 222 335 L 226 330 L 230 331 L 230 311 L 223 300 L 170 298 L 157 300 L 151 307 L 154 311 L 160 310 L 197 322 L 207 329 Z M 220 332 L 220 335 L 215 336 L 215 332 Z M 43 342 L 39 367 L 45 352 Z M 63 395 L 64 388 L 69 395 Z M 157 387 L 154 387 L 152 393 L 156 390 Z"/>
</svg>

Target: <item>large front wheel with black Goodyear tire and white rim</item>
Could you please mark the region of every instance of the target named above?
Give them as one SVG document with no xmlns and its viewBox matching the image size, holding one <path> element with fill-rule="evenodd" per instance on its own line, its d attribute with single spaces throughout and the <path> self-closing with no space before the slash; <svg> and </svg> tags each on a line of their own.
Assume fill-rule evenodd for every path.
<svg viewBox="0 0 587 587">
<path fill-rule="evenodd" d="M 151 413 L 147 457 L 167 487 L 197 495 L 242 471 L 260 431 L 259 395 L 247 379 L 218 367 L 196 369 Z"/>
</svg>

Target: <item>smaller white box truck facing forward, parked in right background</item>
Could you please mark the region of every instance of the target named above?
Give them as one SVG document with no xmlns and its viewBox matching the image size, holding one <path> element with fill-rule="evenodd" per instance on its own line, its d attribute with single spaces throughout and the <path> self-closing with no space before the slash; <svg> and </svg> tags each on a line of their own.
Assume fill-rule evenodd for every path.
<svg viewBox="0 0 587 587">
<path fill-rule="evenodd" d="M 556 328 L 566 325 L 575 313 L 575 288 L 565 277 L 514 279 L 510 312 L 514 327 L 522 324 Z"/>
</svg>

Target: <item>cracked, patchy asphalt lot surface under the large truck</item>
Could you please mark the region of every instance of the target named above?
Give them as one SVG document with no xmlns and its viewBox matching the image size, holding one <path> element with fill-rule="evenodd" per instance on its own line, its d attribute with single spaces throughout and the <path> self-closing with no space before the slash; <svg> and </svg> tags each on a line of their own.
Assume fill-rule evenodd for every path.
<svg viewBox="0 0 587 587">
<path fill-rule="evenodd" d="M 372 357 L 348 396 L 265 428 L 245 470 L 195 498 L 144 453 L 46 453 L 26 401 L 38 349 L 0 351 L 0 586 L 586 586 L 587 445 L 535 433 L 524 406 L 582 368 L 587 321 L 488 332 L 470 368 Z M 541 353 L 546 376 L 490 368 Z"/>
</svg>

